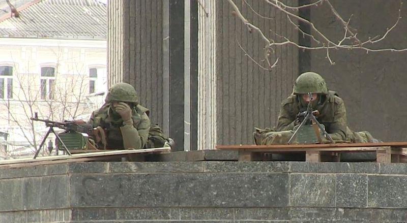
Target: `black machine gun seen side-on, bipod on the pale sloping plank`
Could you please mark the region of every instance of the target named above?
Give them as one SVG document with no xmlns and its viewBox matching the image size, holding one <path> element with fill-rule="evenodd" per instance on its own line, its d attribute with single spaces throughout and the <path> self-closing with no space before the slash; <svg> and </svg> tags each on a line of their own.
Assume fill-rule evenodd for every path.
<svg viewBox="0 0 407 223">
<path fill-rule="evenodd" d="M 40 119 L 38 118 L 38 113 L 35 112 L 34 117 L 30 118 L 33 121 L 42 121 L 45 122 L 45 125 L 47 127 L 49 127 L 48 132 L 45 134 L 44 138 L 42 139 L 38 149 L 36 149 L 34 158 L 36 158 L 38 156 L 38 154 L 40 153 L 40 149 L 42 148 L 42 146 L 45 143 L 45 140 L 48 138 L 49 134 L 52 132 L 55 137 L 57 138 L 57 140 L 62 144 L 64 151 L 66 151 L 66 153 L 68 155 L 71 155 L 71 152 L 68 150 L 68 147 L 65 145 L 65 143 L 63 142 L 63 140 L 61 139 L 61 137 L 55 133 L 54 131 L 54 127 L 59 128 L 59 129 L 63 129 L 65 130 L 67 133 L 85 133 L 88 134 L 88 136 L 93 135 L 96 137 L 97 141 L 102 141 L 105 142 L 105 135 L 103 130 L 100 131 L 100 129 L 98 128 L 93 128 L 92 124 L 88 124 L 86 122 L 84 122 L 83 120 L 74 120 L 74 121 L 64 121 L 64 122 L 59 122 L 59 121 L 52 121 L 49 119 Z"/>
</svg>

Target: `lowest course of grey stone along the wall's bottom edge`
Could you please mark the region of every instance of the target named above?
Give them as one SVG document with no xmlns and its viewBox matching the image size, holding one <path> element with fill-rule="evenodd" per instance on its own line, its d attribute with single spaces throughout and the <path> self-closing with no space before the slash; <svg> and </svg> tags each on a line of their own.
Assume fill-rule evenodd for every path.
<svg viewBox="0 0 407 223">
<path fill-rule="evenodd" d="M 72 208 L 0 212 L 0 222 L 405 222 L 405 209 Z"/>
</svg>

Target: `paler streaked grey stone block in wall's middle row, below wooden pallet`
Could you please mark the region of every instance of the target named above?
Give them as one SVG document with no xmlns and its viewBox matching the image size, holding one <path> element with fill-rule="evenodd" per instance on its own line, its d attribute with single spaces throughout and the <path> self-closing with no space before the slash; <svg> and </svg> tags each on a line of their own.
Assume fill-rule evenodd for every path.
<svg viewBox="0 0 407 223">
<path fill-rule="evenodd" d="M 291 206 L 335 206 L 335 175 L 291 174 L 289 183 Z"/>
</svg>

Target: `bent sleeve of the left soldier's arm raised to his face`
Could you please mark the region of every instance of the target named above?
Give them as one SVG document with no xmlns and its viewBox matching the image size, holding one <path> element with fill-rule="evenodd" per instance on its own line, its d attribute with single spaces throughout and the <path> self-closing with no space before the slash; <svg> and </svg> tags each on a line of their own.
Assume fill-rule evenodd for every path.
<svg viewBox="0 0 407 223">
<path fill-rule="evenodd" d="M 141 115 L 137 129 L 133 125 L 126 124 L 120 127 L 125 149 L 142 149 L 146 145 L 150 131 L 150 119 L 146 113 Z"/>
</svg>

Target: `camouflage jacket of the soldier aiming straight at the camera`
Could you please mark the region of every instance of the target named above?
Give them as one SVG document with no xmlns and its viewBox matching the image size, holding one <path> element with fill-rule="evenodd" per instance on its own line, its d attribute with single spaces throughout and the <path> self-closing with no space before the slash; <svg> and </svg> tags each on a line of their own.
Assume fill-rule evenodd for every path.
<svg viewBox="0 0 407 223">
<path fill-rule="evenodd" d="M 301 105 L 297 95 L 290 95 L 281 104 L 276 131 L 293 130 L 297 114 L 304 110 L 306 110 L 306 107 L 304 108 Z M 319 115 L 316 117 L 317 120 L 325 125 L 327 133 L 335 141 L 355 141 L 355 134 L 347 126 L 343 100 L 334 91 L 322 95 L 313 110 L 319 111 Z"/>
</svg>

